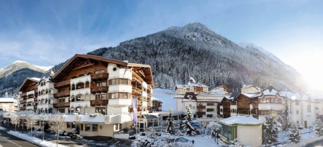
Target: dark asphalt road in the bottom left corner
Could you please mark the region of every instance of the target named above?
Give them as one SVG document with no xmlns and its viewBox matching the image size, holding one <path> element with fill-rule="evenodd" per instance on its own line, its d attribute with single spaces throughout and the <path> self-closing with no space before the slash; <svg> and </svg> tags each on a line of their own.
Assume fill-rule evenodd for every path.
<svg viewBox="0 0 323 147">
<path fill-rule="evenodd" d="M 10 135 L 5 130 L 0 130 L 0 147 L 29 147 L 29 146 L 37 146 L 37 145 L 29 143 L 16 136 Z"/>
</svg>

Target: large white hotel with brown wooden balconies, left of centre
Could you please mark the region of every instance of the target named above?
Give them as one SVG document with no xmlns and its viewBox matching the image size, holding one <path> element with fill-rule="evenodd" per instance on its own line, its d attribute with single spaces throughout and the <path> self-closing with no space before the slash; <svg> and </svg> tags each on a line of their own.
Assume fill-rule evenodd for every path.
<svg viewBox="0 0 323 147">
<path fill-rule="evenodd" d="M 19 88 L 18 111 L 45 112 L 46 121 L 59 113 L 67 132 L 78 126 L 82 136 L 118 137 L 115 132 L 161 109 L 152 100 L 153 88 L 149 65 L 76 54 L 55 74 L 27 78 Z"/>
</svg>

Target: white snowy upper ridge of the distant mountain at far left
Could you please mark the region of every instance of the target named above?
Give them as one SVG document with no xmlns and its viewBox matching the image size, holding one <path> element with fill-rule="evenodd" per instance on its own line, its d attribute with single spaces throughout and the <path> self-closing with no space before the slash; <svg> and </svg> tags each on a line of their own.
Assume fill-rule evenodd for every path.
<svg viewBox="0 0 323 147">
<path fill-rule="evenodd" d="M 4 68 L 0 68 L 0 79 L 10 75 L 11 73 L 13 73 L 19 69 L 23 69 L 23 68 L 29 68 L 29 69 L 32 69 L 35 71 L 45 72 L 45 71 L 51 69 L 52 66 L 45 67 L 45 66 L 32 65 L 26 61 L 17 60 L 17 61 L 12 62 L 11 64 L 9 64 L 8 66 L 6 66 Z"/>
</svg>

